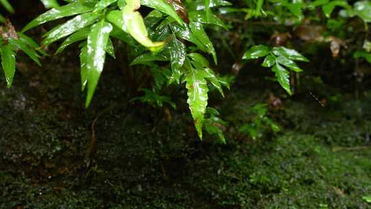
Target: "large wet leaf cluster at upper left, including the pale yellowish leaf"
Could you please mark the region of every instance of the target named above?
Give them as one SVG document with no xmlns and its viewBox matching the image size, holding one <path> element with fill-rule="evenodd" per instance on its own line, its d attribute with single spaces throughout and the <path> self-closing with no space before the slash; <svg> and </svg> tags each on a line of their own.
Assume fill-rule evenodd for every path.
<svg viewBox="0 0 371 209">
<path fill-rule="evenodd" d="M 138 11 L 142 5 L 154 9 L 145 18 Z M 137 56 L 131 65 L 148 65 L 155 77 L 155 83 L 158 84 L 153 88 L 153 92 L 144 89 L 145 96 L 140 100 L 158 106 L 164 102 L 174 106 L 168 97 L 159 95 L 161 87 L 165 84 L 186 83 L 190 111 L 199 137 L 202 138 L 208 85 L 218 89 L 222 95 L 222 86 L 229 87 L 227 80 L 218 76 L 210 67 L 209 61 L 196 52 L 200 50 L 205 54 L 211 54 L 214 63 L 217 63 L 214 46 L 204 27 L 217 25 L 225 28 L 223 22 L 212 13 L 212 8 L 221 5 L 231 3 L 197 0 L 183 5 L 180 1 L 165 0 L 69 0 L 66 5 L 53 8 L 36 17 L 23 28 L 22 32 L 49 21 L 73 17 L 44 34 L 43 46 L 67 37 L 56 51 L 60 53 L 72 43 L 81 41 L 81 83 L 82 90 L 87 87 L 86 107 L 89 106 L 98 85 L 105 54 L 115 58 L 111 39 L 123 41 L 133 48 L 132 55 Z M 18 39 L 9 39 L 7 42 L 12 43 L 14 40 Z M 27 41 L 30 45 L 31 39 Z M 196 50 L 186 47 L 186 42 L 196 45 Z M 19 45 L 19 48 L 27 53 L 25 47 L 21 47 L 24 45 Z M 30 46 L 38 47 L 34 42 Z M 30 51 L 28 48 L 27 50 Z M 3 69 L 10 87 L 14 76 L 15 58 L 6 54 L 13 52 L 11 49 L 3 51 Z M 34 50 L 28 54 L 39 63 Z M 171 70 L 167 66 L 159 65 L 158 61 L 170 61 Z"/>
</svg>

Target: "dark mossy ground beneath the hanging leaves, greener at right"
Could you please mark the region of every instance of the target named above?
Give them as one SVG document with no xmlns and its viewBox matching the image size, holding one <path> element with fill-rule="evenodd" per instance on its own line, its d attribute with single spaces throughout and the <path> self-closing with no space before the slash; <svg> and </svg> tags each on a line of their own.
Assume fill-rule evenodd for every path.
<svg viewBox="0 0 371 209">
<path fill-rule="evenodd" d="M 128 103 L 109 66 L 83 109 L 76 66 L 23 69 L 11 89 L 1 76 L 0 208 L 371 208 L 368 94 L 326 107 L 285 100 L 272 114 L 281 133 L 253 141 L 229 127 L 220 144 L 197 139 L 185 101 L 170 122 Z M 234 88 L 218 104 L 229 120 L 231 103 L 265 99 Z"/>
</svg>

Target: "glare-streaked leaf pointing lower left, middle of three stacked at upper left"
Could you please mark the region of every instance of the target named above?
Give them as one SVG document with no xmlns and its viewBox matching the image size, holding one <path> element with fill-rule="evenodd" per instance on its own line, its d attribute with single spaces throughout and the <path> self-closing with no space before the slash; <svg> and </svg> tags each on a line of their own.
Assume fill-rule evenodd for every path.
<svg viewBox="0 0 371 209">
<path fill-rule="evenodd" d="M 69 36 L 70 34 L 85 28 L 87 25 L 91 25 L 91 23 L 94 23 L 98 20 L 99 16 L 99 13 L 80 14 L 73 19 L 70 19 L 63 25 L 58 25 L 56 28 L 53 28 L 44 35 L 46 38 L 44 39 L 43 44 L 49 45 L 54 41 L 63 39 L 65 36 Z"/>
</svg>

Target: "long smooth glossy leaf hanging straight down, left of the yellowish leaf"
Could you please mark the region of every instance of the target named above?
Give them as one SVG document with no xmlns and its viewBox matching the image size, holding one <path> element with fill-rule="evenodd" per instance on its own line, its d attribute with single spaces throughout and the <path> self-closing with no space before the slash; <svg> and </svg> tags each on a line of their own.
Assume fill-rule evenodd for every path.
<svg viewBox="0 0 371 209">
<path fill-rule="evenodd" d="M 104 67 L 104 60 L 106 55 L 106 45 L 109 41 L 109 33 L 112 30 L 112 25 L 104 20 L 95 23 L 91 27 L 87 39 L 87 80 L 88 92 L 85 107 L 88 107 L 95 88 L 98 85 L 100 74 Z"/>
</svg>

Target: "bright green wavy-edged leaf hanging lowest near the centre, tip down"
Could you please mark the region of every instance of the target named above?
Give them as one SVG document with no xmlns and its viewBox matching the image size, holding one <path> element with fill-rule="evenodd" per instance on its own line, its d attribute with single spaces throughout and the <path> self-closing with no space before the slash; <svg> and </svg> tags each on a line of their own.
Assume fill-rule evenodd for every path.
<svg viewBox="0 0 371 209">
<path fill-rule="evenodd" d="M 190 68 L 186 76 L 186 88 L 188 89 L 188 100 L 194 126 L 202 140 L 202 127 L 207 106 L 207 82 L 205 71 Z"/>
</svg>

